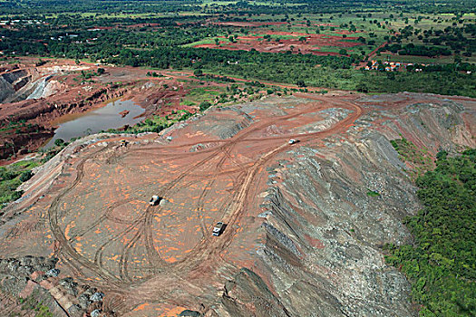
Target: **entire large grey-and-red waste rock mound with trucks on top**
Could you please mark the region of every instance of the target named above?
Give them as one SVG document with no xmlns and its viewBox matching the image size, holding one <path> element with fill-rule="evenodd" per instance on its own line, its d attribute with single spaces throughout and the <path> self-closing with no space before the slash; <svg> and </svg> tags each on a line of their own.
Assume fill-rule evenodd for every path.
<svg viewBox="0 0 476 317">
<path fill-rule="evenodd" d="M 3 210 L 2 303 L 37 292 L 62 316 L 414 316 L 382 250 L 410 238 L 402 221 L 420 208 L 390 140 L 474 147 L 475 111 L 432 94 L 294 93 L 73 141 Z"/>
</svg>

